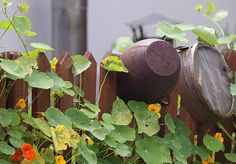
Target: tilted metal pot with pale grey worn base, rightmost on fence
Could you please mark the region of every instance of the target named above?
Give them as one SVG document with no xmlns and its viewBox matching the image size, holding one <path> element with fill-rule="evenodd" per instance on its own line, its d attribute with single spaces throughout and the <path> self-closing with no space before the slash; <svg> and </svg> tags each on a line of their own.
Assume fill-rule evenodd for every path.
<svg viewBox="0 0 236 164">
<path fill-rule="evenodd" d="M 230 93 L 229 68 L 220 52 L 205 43 L 196 43 L 179 55 L 179 87 L 185 108 L 199 121 L 230 117 L 234 97 Z"/>
</svg>

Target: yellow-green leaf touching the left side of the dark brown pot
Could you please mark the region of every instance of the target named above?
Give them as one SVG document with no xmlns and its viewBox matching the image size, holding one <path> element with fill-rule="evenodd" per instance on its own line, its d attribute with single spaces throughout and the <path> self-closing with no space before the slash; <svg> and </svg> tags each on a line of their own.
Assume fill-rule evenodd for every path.
<svg viewBox="0 0 236 164">
<path fill-rule="evenodd" d="M 108 71 L 128 73 L 122 60 L 118 56 L 109 55 L 102 60 L 102 67 Z"/>
</svg>

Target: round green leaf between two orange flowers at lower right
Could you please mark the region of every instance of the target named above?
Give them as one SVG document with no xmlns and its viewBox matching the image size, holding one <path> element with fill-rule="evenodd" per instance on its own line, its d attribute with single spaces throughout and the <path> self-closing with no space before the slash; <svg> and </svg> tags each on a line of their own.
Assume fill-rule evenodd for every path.
<svg viewBox="0 0 236 164">
<path fill-rule="evenodd" d="M 220 142 L 218 139 L 216 139 L 215 137 L 210 136 L 209 134 L 206 134 L 204 136 L 203 143 L 207 149 L 213 152 L 218 152 L 224 149 L 224 144 Z"/>
</svg>

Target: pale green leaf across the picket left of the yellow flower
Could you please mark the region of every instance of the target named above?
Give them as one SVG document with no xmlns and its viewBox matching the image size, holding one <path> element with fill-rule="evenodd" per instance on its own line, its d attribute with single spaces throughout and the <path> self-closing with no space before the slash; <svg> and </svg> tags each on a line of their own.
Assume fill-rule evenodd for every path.
<svg viewBox="0 0 236 164">
<path fill-rule="evenodd" d="M 45 73 L 34 70 L 31 75 L 27 75 L 25 81 L 34 88 L 49 89 L 54 83 Z"/>
</svg>

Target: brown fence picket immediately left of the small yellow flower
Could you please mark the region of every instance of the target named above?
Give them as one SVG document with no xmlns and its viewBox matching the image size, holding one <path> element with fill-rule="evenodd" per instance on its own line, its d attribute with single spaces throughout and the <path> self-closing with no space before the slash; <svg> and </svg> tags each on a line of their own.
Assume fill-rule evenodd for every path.
<svg viewBox="0 0 236 164">
<path fill-rule="evenodd" d="M 44 53 L 39 53 L 37 62 L 39 71 L 47 72 L 51 70 L 48 58 Z M 32 101 L 32 114 L 37 116 L 38 112 L 44 112 L 50 106 L 50 90 L 33 88 Z"/>
</svg>

